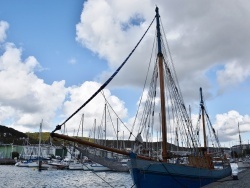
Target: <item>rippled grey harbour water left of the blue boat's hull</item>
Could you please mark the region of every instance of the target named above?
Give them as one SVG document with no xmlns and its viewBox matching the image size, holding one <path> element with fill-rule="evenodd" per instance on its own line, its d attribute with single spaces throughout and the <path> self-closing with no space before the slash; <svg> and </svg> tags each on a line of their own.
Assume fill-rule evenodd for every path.
<svg viewBox="0 0 250 188">
<path fill-rule="evenodd" d="M 108 183 L 106 183 L 108 182 Z M 72 170 L 42 170 L 35 168 L 0 165 L 2 188 L 51 188 L 51 187 L 132 187 L 129 173 L 91 172 Z"/>
</svg>

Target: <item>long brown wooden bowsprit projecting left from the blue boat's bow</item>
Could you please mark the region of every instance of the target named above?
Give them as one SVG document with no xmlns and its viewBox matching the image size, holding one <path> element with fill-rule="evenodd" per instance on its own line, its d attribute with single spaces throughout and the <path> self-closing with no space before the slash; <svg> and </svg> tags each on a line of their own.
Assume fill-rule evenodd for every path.
<svg viewBox="0 0 250 188">
<path fill-rule="evenodd" d="M 55 138 L 60 138 L 60 139 L 68 140 L 68 141 L 71 141 L 71 142 L 76 142 L 76 143 L 81 144 L 81 145 L 87 145 L 87 146 L 107 150 L 107 151 L 122 154 L 122 155 L 127 155 L 127 156 L 130 155 L 130 152 L 127 152 L 127 151 L 119 150 L 119 149 L 116 149 L 116 148 L 110 148 L 110 147 L 107 147 L 107 146 L 103 146 L 103 145 L 96 144 L 96 143 L 93 143 L 93 142 L 81 140 L 79 138 L 73 138 L 73 137 L 70 137 L 70 136 L 63 135 L 63 134 L 51 133 L 51 137 L 52 138 L 54 138 L 54 137 Z M 141 155 L 137 155 L 137 158 L 145 159 L 145 160 L 153 160 L 152 158 L 141 156 Z"/>
</svg>

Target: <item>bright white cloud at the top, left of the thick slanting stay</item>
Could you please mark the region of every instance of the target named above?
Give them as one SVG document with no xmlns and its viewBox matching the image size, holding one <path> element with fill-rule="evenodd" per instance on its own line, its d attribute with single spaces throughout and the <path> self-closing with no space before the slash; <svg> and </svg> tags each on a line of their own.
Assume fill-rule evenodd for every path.
<svg viewBox="0 0 250 188">
<path fill-rule="evenodd" d="M 133 6 L 128 1 L 85 2 L 81 22 L 76 26 L 77 41 L 108 59 L 111 67 L 117 66 L 145 29 L 143 22 L 139 26 L 131 23 L 134 18 L 143 20 L 151 6 L 149 1 L 144 1 L 143 7 L 138 8 L 140 4 L 138 0 L 133 1 Z"/>
</svg>

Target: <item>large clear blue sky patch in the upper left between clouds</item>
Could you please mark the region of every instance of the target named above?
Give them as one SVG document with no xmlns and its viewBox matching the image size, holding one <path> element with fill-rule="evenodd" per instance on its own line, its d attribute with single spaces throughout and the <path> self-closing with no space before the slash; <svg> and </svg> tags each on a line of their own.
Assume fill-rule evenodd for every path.
<svg viewBox="0 0 250 188">
<path fill-rule="evenodd" d="M 7 41 L 23 48 L 23 58 L 33 55 L 43 62 L 47 71 L 37 74 L 48 84 L 55 80 L 66 80 L 66 86 L 80 84 L 105 68 L 96 55 L 75 40 L 83 2 L 1 2 L 1 19 L 10 24 Z M 90 66 L 93 69 L 88 71 Z"/>
</svg>

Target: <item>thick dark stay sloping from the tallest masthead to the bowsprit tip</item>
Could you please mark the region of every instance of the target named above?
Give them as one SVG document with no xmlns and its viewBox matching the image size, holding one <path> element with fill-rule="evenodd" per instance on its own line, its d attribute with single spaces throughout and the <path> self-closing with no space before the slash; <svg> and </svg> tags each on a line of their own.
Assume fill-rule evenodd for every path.
<svg viewBox="0 0 250 188">
<path fill-rule="evenodd" d="M 72 115 L 70 115 L 61 125 L 57 125 L 55 130 L 52 131 L 52 134 L 57 131 L 60 130 L 62 125 L 65 124 L 67 121 L 69 121 L 74 115 L 76 115 L 84 106 L 86 106 L 101 90 L 103 90 L 108 84 L 109 82 L 111 82 L 111 80 L 113 80 L 113 78 L 117 75 L 117 73 L 120 71 L 120 69 L 125 65 L 125 63 L 128 61 L 128 59 L 130 58 L 130 56 L 134 53 L 134 51 L 136 50 L 136 48 L 138 47 L 138 45 L 141 43 L 142 39 L 144 38 L 144 36 L 146 35 L 146 33 L 148 32 L 149 28 L 151 27 L 151 25 L 153 24 L 155 20 L 152 20 L 152 22 L 150 23 L 149 27 L 147 28 L 147 30 L 145 31 L 145 33 L 142 35 L 141 39 L 139 40 L 139 42 L 135 45 L 134 49 L 130 52 L 130 54 L 128 55 L 128 57 L 123 61 L 123 63 L 118 67 L 118 69 L 116 69 L 116 71 L 112 74 L 112 76 L 82 105 L 80 106 Z"/>
</svg>

